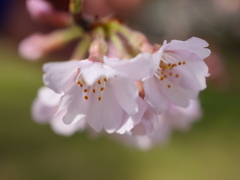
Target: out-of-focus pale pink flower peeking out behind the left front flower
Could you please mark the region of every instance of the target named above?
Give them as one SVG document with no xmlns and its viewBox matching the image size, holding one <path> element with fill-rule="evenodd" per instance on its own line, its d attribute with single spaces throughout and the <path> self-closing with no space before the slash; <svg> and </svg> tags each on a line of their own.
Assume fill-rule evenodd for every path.
<svg viewBox="0 0 240 180">
<path fill-rule="evenodd" d="M 85 122 L 79 121 L 76 124 L 64 124 L 62 118 L 66 111 L 62 111 L 57 116 L 54 116 L 62 95 L 55 93 L 47 87 L 40 88 L 32 106 L 32 117 L 37 123 L 49 123 L 55 133 L 70 136 L 79 130 L 83 130 Z"/>
</svg>

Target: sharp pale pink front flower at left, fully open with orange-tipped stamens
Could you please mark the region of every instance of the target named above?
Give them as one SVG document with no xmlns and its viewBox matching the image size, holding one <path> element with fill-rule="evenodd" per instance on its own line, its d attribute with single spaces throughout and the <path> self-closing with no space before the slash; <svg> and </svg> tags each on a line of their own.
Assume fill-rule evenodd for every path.
<svg viewBox="0 0 240 180">
<path fill-rule="evenodd" d="M 58 109 L 58 113 L 67 110 L 64 123 L 85 118 L 97 132 L 104 128 L 112 133 L 138 112 L 134 81 L 150 74 L 151 56 L 144 53 L 128 61 L 104 57 L 103 62 L 47 63 L 44 83 L 57 93 L 65 93 Z"/>
</svg>

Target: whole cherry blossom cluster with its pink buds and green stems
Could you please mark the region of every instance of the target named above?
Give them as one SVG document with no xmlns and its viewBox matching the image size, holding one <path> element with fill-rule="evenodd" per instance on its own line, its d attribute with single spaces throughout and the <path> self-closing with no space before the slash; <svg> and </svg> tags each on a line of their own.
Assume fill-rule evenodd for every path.
<svg viewBox="0 0 240 180">
<path fill-rule="evenodd" d="M 43 0 L 27 3 L 36 19 L 63 14 Z M 22 56 L 36 60 L 79 40 L 68 61 L 44 64 L 45 87 L 32 108 L 37 122 L 49 123 L 66 136 L 83 130 L 105 132 L 147 148 L 199 119 L 198 94 L 209 76 L 206 41 L 192 37 L 152 45 L 142 33 L 113 17 L 86 21 L 79 14 L 80 23 L 66 17 L 69 27 L 33 35 L 20 45 Z"/>
</svg>

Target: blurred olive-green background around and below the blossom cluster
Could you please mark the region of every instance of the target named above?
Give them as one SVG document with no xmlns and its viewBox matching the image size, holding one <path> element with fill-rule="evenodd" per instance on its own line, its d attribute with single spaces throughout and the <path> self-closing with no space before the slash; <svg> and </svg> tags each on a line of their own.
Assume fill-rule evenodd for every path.
<svg viewBox="0 0 240 180">
<path fill-rule="evenodd" d="M 48 125 L 35 124 L 30 109 L 43 85 L 41 63 L 21 59 L 15 40 L 23 29 L 8 30 L 0 40 L 0 180 L 240 179 L 240 40 L 234 33 L 191 31 L 210 39 L 224 71 L 201 93 L 201 121 L 189 132 L 174 133 L 165 146 L 144 152 L 87 133 L 58 136 Z"/>
</svg>

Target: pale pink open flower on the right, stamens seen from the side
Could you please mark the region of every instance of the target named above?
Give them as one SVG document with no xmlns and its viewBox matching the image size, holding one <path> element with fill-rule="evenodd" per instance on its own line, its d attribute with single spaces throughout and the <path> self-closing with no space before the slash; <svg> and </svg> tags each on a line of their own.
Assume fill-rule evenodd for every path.
<svg viewBox="0 0 240 180">
<path fill-rule="evenodd" d="M 206 88 L 208 67 L 203 61 L 210 55 L 208 43 L 199 38 L 164 42 L 153 54 L 154 74 L 143 80 L 145 100 L 156 114 L 167 109 L 168 103 L 187 107 Z"/>
</svg>

